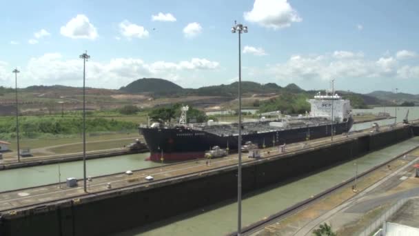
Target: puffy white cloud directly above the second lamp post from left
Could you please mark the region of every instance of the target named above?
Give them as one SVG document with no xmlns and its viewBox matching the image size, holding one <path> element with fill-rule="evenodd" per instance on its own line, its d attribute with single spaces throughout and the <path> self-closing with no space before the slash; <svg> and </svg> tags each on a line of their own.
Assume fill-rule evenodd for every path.
<svg viewBox="0 0 419 236">
<path fill-rule="evenodd" d="M 60 29 L 61 35 L 72 39 L 96 39 L 98 33 L 84 14 L 77 14 Z"/>
</svg>

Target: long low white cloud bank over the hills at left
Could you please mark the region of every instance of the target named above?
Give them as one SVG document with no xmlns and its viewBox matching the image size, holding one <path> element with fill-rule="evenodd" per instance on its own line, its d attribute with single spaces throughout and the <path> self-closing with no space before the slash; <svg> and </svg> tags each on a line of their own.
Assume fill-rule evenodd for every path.
<svg viewBox="0 0 419 236">
<path fill-rule="evenodd" d="M 216 70 L 218 61 L 205 58 L 192 58 L 185 61 L 143 61 L 138 58 L 115 58 L 110 61 L 95 61 L 86 63 L 86 84 L 97 88 L 120 88 L 134 79 L 141 77 L 159 77 L 172 81 L 180 78 L 200 75 L 203 70 Z M 21 86 L 34 84 L 81 86 L 83 61 L 80 59 L 65 59 L 59 53 L 46 53 L 41 57 L 32 57 L 24 71 Z M 0 61 L 0 81 L 4 84 L 12 82 L 12 68 L 6 62 Z M 190 83 L 190 82 L 189 82 Z M 187 84 L 189 84 L 187 83 Z"/>
</svg>

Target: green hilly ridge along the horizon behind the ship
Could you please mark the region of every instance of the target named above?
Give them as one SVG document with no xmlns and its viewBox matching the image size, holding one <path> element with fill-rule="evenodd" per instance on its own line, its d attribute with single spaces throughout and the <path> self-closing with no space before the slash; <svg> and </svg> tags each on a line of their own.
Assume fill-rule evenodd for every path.
<svg viewBox="0 0 419 236">
<path fill-rule="evenodd" d="M 243 97 L 292 97 L 292 95 L 302 95 L 306 99 L 313 97 L 319 90 L 303 90 L 295 83 L 289 83 L 285 87 L 278 86 L 276 83 L 257 83 L 254 81 L 242 81 L 241 89 Z M 72 96 L 81 94 L 82 88 L 70 86 L 29 86 L 19 89 L 25 92 L 40 93 L 45 97 Z M 0 87 L 0 95 L 12 92 L 12 88 Z M 228 99 L 236 99 L 238 96 L 238 82 L 221 84 L 217 86 L 205 86 L 201 88 L 182 88 L 172 81 L 157 78 L 143 78 L 132 81 L 127 86 L 119 90 L 104 88 L 87 88 L 89 95 L 113 96 L 118 94 L 145 94 L 151 97 L 186 97 L 186 96 L 216 96 Z M 345 99 L 350 99 L 351 104 L 357 108 L 366 108 L 368 105 L 394 105 L 401 104 L 401 101 L 419 101 L 419 95 L 409 95 L 398 93 L 397 99 L 392 99 L 395 95 L 392 92 L 375 91 L 367 95 L 354 92 L 337 91 Z M 45 93 L 45 95 L 44 95 Z M 41 96 L 39 95 L 39 96 Z M 399 97 L 402 96 L 403 99 Z M 395 102 L 397 100 L 398 102 Z"/>
</svg>

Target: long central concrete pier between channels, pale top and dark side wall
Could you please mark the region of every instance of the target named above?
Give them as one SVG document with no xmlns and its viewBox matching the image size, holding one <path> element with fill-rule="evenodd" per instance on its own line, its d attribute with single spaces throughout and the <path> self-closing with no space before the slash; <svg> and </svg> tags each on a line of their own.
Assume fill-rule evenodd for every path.
<svg viewBox="0 0 419 236">
<path fill-rule="evenodd" d="M 412 137 L 411 126 L 382 127 L 263 150 L 245 157 L 243 192 L 307 173 Z M 268 153 L 269 152 L 269 153 Z M 0 235 L 104 235 L 236 197 L 236 155 L 98 177 L 83 187 L 58 184 L 0 194 Z M 290 168 L 292 167 L 292 168 Z M 145 180 L 147 175 L 153 181 Z M 79 181 L 81 184 L 82 181 Z M 108 188 L 110 183 L 111 188 Z M 63 184 L 62 184 L 63 185 Z"/>
</svg>

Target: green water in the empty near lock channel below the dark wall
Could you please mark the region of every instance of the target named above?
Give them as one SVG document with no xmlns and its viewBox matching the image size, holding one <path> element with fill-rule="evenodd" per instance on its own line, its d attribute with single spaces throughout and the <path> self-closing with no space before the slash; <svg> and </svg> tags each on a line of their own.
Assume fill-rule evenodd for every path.
<svg viewBox="0 0 419 236">
<path fill-rule="evenodd" d="M 419 137 L 389 146 L 356 159 L 358 173 L 381 164 L 419 145 Z M 355 175 L 354 161 L 329 168 L 303 179 L 292 181 L 243 199 L 243 226 L 256 222 L 293 204 L 331 188 Z M 174 196 L 176 197 L 176 196 Z M 203 208 L 194 215 L 174 217 L 170 222 L 156 223 L 149 228 L 134 228 L 119 233 L 128 235 L 225 235 L 236 230 L 237 204 Z"/>
</svg>

